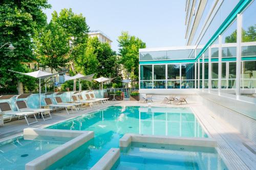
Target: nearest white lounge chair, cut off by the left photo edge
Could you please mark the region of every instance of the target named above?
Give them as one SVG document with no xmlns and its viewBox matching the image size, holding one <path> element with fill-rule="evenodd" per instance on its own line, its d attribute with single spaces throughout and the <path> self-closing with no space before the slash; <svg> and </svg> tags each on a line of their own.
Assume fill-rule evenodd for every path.
<svg viewBox="0 0 256 170">
<path fill-rule="evenodd" d="M 20 119 L 21 117 L 24 117 L 28 125 L 35 124 L 35 123 L 38 122 L 37 119 L 36 119 L 36 116 L 35 116 L 36 114 L 38 114 L 38 112 L 13 111 L 8 102 L 0 103 L 0 112 L 4 115 L 10 115 L 10 120 L 9 121 L 11 121 L 13 116 L 18 116 L 18 119 Z M 35 122 L 32 122 L 32 123 L 28 122 L 28 116 L 30 116 L 30 115 L 34 115 Z"/>
</svg>

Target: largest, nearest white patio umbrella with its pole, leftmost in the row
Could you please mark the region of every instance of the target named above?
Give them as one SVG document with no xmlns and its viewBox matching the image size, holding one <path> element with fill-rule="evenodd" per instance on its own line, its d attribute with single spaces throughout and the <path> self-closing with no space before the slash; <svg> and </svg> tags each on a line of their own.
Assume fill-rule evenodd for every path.
<svg viewBox="0 0 256 170">
<path fill-rule="evenodd" d="M 45 79 L 45 78 L 52 77 L 54 75 L 59 74 L 59 73 L 52 74 L 52 73 L 41 71 L 41 70 L 28 72 L 28 73 L 23 73 L 23 72 L 18 72 L 13 70 L 9 70 L 9 71 L 39 79 L 39 107 L 40 108 L 41 108 L 41 79 Z"/>
</svg>

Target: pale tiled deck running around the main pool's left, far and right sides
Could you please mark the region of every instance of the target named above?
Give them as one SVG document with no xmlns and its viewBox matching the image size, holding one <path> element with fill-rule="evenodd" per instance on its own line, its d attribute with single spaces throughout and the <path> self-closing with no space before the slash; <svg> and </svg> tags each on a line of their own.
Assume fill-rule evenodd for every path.
<svg viewBox="0 0 256 170">
<path fill-rule="evenodd" d="M 148 106 L 146 103 L 133 102 L 133 101 L 115 101 L 109 102 L 104 106 L 97 108 L 87 108 L 86 110 L 67 114 L 66 111 L 58 111 L 52 114 L 52 119 L 44 122 L 42 119 L 38 120 L 37 124 L 27 126 L 24 119 L 15 120 L 13 122 L 5 123 L 4 127 L 0 127 L 0 141 L 3 138 L 19 134 L 25 128 L 44 128 L 52 124 L 62 122 L 64 120 L 77 117 L 81 114 L 88 114 L 98 109 L 103 109 L 108 106 Z M 208 133 L 209 137 L 217 140 L 217 150 L 222 155 L 224 162 L 230 169 L 256 169 L 256 144 L 247 139 L 237 129 L 230 126 L 223 119 L 218 117 L 207 109 L 201 102 L 188 101 L 188 104 L 183 105 L 170 105 L 161 102 L 153 102 L 151 106 L 164 106 L 164 107 L 190 107 L 198 120 L 200 121 L 203 129 Z"/>
</svg>

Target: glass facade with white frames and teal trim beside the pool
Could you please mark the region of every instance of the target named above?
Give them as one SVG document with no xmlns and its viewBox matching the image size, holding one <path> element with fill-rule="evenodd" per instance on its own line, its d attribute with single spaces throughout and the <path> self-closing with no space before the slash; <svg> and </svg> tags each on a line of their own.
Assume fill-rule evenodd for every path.
<svg viewBox="0 0 256 170">
<path fill-rule="evenodd" d="M 219 29 L 238 2 L 223 1 L 193 48 L 166 50 L 165 54 L 161 51 L 165 63 L 155 64 L 152 61 L 151 65 L 147 65 L 151 69 L 146 72 L 152 76 L 140 72 L 140 76 L 146 76 L 140 77 L 140 82 L 143 82 L 140 88 L 197 88 L 256 103 L 256 19 L 252 17 L 255 15 L 256 1 L 249 3 L 238 15 L 233 15 L 235 17 L 224 30 Z M 208 2 L 206 6 L 209 8 Z M 140 66 L 146 61 L 144 53 L 151 52 L 140 53 Z M 175 63 L 172 60 L 180 61 Z M 140 71 L 143 71 L 142 67 Z M 145 85 L 149 80 L 151 83 Z"/>
</svg>

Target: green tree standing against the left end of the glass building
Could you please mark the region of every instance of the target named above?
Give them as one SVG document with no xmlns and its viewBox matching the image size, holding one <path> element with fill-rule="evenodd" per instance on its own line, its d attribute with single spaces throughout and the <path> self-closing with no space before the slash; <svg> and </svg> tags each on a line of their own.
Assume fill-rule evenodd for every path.
<svg viewBox="0 0 256 170">
<path fill-rule="evenodd" d="M 132 79 L 139 75 L 139 48 L 145 48 L 146 43 L 135 36 L 130 36 L 128 32 L 122 32 L 118 37 L 120 63 L 129 72 Z M 127 76 L 129 77 L 129 76 Z"/>
</svg>

